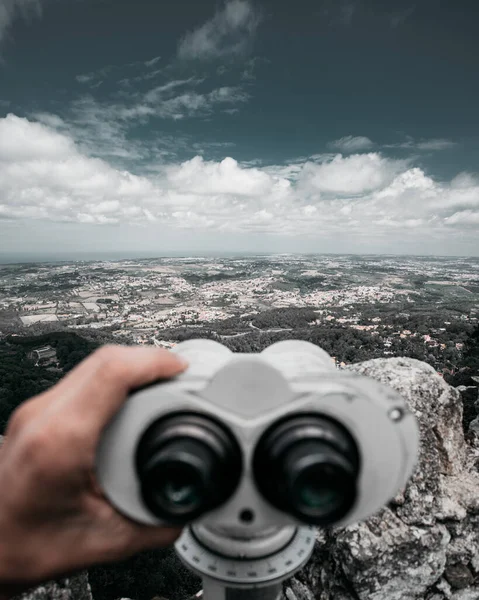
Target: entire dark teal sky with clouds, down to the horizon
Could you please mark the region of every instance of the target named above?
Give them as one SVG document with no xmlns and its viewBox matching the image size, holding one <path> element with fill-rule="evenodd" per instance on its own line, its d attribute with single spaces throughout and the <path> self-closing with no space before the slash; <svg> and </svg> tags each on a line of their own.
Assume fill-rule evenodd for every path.
<svg viewBox="0 0 479 600">
<path fill-rule="evenodd" d="M 476 0 L 0 0 L 0 257 L 479 256 Z"/>
</svg>

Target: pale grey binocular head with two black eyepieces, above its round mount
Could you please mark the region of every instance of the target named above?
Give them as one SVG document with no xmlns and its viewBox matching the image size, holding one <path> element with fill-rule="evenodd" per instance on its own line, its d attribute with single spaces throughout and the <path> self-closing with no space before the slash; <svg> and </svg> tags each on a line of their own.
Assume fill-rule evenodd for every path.
<svg viewBox="0 0 479 600">
<path fill-rule="evenodd" d="M 195 339 L 172 352 L 186 371 L 134 390 L 98 447 L 99 483 L 129 518 L 245 539 L 344 526 L 410 477 L 419 433 L 403 398 L 318 346 L 240 354 Z"/>
</svg>

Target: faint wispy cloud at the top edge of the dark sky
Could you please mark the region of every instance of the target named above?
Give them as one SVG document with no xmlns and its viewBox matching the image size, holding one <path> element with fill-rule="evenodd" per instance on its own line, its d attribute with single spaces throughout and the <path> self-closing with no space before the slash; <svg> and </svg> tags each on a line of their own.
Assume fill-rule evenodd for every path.
<svg viewBox="0 0 479 600">
<path fill-rule="evenodd" d="M 188 32 L 178 45 L 178 58 L 212 59 L 243 53 L 260 17 L 249 0 L 227 0 L 212 19 Z"/>
</svg>

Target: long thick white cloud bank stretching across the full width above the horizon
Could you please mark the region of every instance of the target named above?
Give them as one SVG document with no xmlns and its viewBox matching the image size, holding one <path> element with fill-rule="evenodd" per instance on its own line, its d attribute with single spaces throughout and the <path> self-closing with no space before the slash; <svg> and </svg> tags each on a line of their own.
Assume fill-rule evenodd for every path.
<svg viewBox="0 0 479 600">
<path fill-rule="evenodd" d="M 276 167 L 196 156 L 136 175 L 88 156 L 58 124 L 0 119 L 1 218 L 477 247 L 479 181 L 467 173 L 438 182 L 367 153 Z"/>
</svg>

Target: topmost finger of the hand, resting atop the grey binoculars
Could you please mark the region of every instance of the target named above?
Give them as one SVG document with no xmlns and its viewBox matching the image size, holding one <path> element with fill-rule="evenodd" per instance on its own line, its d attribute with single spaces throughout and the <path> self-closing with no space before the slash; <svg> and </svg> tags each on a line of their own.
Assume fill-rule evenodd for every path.
<svg viewBox="0 0 479 600">
<path fill-rule="evenodd" d="M 55 386 L 59 394 L 56 408 L 98 432 L 129 392 L 179 375 L 186 367 L 178 355 L 162 348 L 103 346 Z"/>
</svg>

